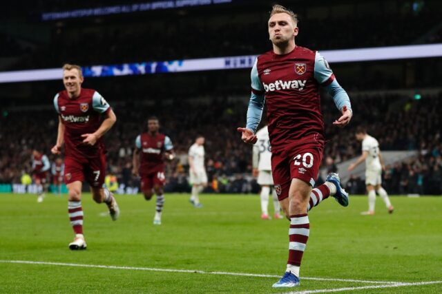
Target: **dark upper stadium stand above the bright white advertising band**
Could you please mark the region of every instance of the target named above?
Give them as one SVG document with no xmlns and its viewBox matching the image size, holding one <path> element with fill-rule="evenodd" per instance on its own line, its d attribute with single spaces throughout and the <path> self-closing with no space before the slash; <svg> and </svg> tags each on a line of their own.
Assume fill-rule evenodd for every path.
<svg viewBox="0 0 442 294">
<path fill-rule="evenodd" d="M 269 50 L 269 43 L 256 41 L 267 39 L 265 9 L 268 4 L 262 1 L 254 4 L 238 3 L 238 9 L 247 9 L 241 9 L 233 18 L 229 10 L 214 7 L 65 21 L 36 21 L 28 17 L 29 26 L 37 25 L 45 33 L 30 37 L 23 36 L 21 30 L 7 36 L 15 43 L 10 49 L 19 49 L 8 52 L 20 56 L 7 70 L 57 67 L 66 61 L 93 65 L 260 54 Z M 85 6 L 84 3 L 77 5 L 77 8 Z M 109 5 L 111 3 L 106 3 Z M 316 50 L 434 43 L 440 39 L 440 30 L 436 30 L 440 25 L 439 5 L 436 1 L 426 1 L 425 6 L 415 8 L 410 1 L 342 0 L 334 9 L 329 9 L 327 3 L 308 8 L 300 5 L 296 11 L 300 14 L 297 42 Z M 99 7 L 99 3 L 95 6 Z M 75 4 L 41 3 L 34 15 L 61 7 L 68 10 Z M 372 17 L 374 12 L 376 19 Z M 325 28 L 330 30 L 329 34 L 324 33 Z M 422 32 L 427 32 L 425 37 Z M 23 42 L 16 48 L 23 39 L 33 39 L 33 48 Z M 204 45 L 195 45 L 202 39 Z M 158 50 L 157 44 L 161 44 L 162 50 Z M 54 48 L 64 49 L 54 54 Z M 104 48 L 106 54 L 102 54 Z"/>
</svg>

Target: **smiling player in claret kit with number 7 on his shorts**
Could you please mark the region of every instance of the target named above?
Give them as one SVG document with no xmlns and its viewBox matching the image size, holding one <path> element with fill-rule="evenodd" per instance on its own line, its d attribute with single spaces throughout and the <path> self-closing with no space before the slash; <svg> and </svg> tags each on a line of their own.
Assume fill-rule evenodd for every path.
<svg viewBox="0 0 442 294">
<path fill-rule="evenodd" d="M 57 143 L 51 151 L 52 154 L 61 154 L 64 145 L 68 213 L 75 232 L 75 239 L 69 244 L 71 250 L 86 249 L 83 235 L 84 213 L 81 207 L 81 187 L 84 180 L 90 185 L 93 200 L 106 203 L 112 220 L 117 220 L 119 216 L 119 207 L 113 193 L 104 187 L 106 149 L 102 139 L 117 117 L 97 91 L 81 87 L 83 81 L 79 65 L 64 65 L 63 83 L 66 90 L 54 97 L 59 124 Z"/>
</svg>

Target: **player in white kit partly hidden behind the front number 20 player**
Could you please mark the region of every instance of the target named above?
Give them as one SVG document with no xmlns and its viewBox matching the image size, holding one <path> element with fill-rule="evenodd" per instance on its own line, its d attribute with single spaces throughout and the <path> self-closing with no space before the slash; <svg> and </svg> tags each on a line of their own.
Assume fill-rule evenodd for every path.
<svg viewBox="0 0 442 294">
<path fill-rule="evenodd" d="M 269 193 L 270 187 L 273 186 L 273 178 L 271 176 L 271 147 L 269 139 L 269 129 L 267 125 L 256 132 L 258 140 L 253 145 L 253 176 L 258 176 L 258 184 L 261 186 L 261 218 L 262 220 L 269 220 Z M 275 209 L 274 217 L 276 219 L 282 218 L 280 215 L 280 204 L 275 189 L 273 195 L 273 208 Z"/>
</svg>

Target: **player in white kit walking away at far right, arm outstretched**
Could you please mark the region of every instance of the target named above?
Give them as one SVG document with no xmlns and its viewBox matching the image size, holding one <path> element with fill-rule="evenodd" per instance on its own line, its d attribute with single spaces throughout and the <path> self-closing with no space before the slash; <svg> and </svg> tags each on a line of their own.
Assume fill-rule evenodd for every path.
<svg viewBox="0 0 442 294">
<path fill-rule="evenodd" d="M 362 155 L 356 162 L 349 165 L 348 170 L 352 171 L 365 160 L 365 185 L 368 192 L 368 211 L 364 211 L 363 215 L 374 215 L 374 204 L 376 202 L 376 192 L 385 202 L 385 206 L 389 213 L 393 213 L 394 207 L 388 198 L 387 191 L 381 186 L 381 175 L 385 166 L 383 157 L 379 150 L 378 140 L 369 136 L 363 127 L 356 129 L 356 139 L 362 141 Z"/>
</svg>

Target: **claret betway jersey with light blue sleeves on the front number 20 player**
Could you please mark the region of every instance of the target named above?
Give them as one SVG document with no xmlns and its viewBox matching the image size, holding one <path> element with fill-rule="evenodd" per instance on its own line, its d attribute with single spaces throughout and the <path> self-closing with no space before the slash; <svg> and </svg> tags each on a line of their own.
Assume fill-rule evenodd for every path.
<svg viewBox="0 0 442 294">
<path fill-rule="evenodd" d="M 318 52 L 296 46 L 288 54 L 258 56 L 251 72 L 253 94 L 265 94 L 273 152 L 304 143 L 324 143 L 320 85 L 334 74 Z"/>
</svg>

